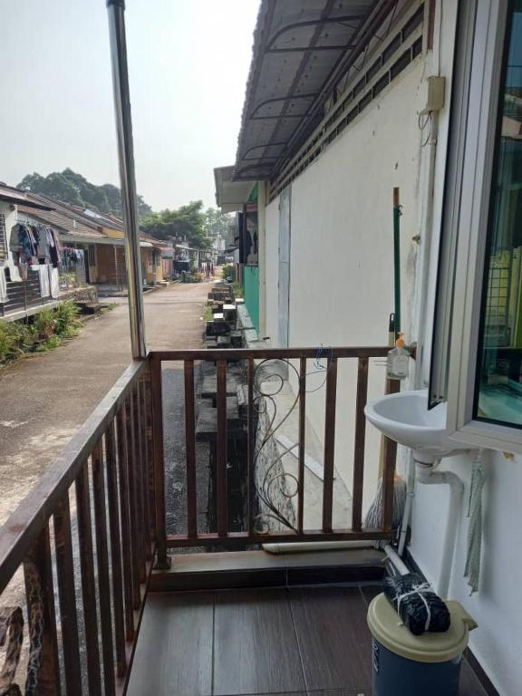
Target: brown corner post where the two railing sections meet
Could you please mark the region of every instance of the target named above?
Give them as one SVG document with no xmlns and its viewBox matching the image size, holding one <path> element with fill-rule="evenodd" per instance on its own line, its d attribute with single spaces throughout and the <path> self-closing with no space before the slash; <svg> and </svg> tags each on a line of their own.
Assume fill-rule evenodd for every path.
<svg viewBox="0 0 522 696">
<path fill-rule="evenodd" d="M 170 567 L 167 556 L 165 516 L 165 462 L 163 451 L 163 400 L 161 396 L 161 360 L 150 360 L 150 388 L 152 390 L 152 442 L 154 445 L 154 493 L 156 498 L 156 567 Z"/>
</svg>

